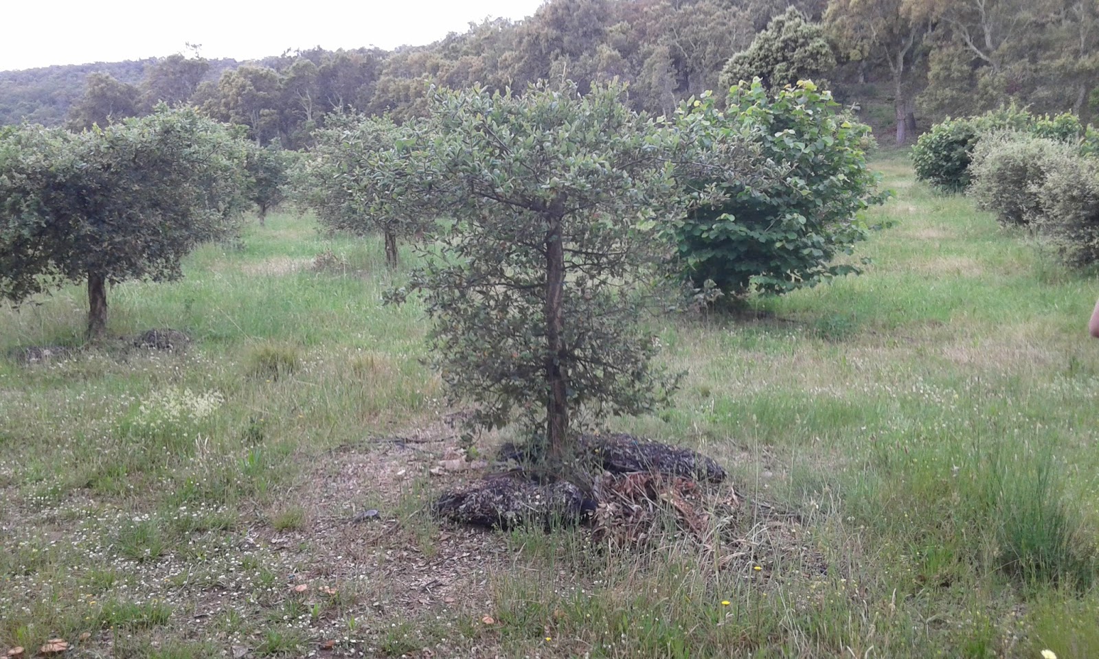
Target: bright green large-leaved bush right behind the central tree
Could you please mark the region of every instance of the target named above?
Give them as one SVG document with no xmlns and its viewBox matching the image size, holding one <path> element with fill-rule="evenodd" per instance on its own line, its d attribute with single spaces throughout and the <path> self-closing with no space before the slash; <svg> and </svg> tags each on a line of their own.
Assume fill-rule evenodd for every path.
<svg viewBox="0 0 1099 659">
<path fill-rule="evenodd" d="M 857 272 L 830 263 L 866 237 L 858 213 L 885 199 L 866 164 L 869 129 L 806 81 L 774 97 L 758 80 L 734 87 L 712 123 L 751 135 L 781 178 L 720 182 L 725 200 L 675 227 L 685 277 L 736 298 L 752 286 L 780 294 Z"/>
</svg>

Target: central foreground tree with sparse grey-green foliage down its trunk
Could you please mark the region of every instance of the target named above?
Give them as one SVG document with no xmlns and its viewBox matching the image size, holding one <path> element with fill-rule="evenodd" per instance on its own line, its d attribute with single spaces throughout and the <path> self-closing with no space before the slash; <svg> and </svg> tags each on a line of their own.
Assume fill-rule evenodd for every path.
<svg viewBox="0 0 1099 659">
<path fill-rule="evenodd" d="M 581 407 L 639 413 L 674 388 L 640 320 L 663 225 L 685 214 L 674 158 L 691 139 L 617 86 L 448 91 L 432 120 L 422 194 L 452 221 L 412 288 L 436 321 L 433 354 L 475 423 L 518 414 L 560 462 Z"/>
</svg>

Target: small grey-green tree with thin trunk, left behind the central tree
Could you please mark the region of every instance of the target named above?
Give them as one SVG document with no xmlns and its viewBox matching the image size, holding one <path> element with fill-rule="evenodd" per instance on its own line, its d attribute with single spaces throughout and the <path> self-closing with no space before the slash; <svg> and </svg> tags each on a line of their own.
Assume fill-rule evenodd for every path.
<svg viewBox="0 0 1099 659">
<path fill-rule="evenodd" d="M 398 239 L 423 232 L 424 200 L 415 191 L 425 179 L 422 160 L 410 157 L 421 136 L 418 125 L 388 118 L 344 115 L 315 133 L 317 145 L 303 181 L 303 200 L 330 231 L 381 234 L 386 263 L 398 265 Z"/>
</svg>

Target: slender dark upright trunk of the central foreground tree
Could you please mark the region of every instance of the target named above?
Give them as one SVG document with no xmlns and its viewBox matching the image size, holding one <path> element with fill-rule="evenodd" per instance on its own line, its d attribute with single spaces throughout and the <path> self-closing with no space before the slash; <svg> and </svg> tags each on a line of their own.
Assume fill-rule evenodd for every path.
<svg viewBox="0 0 1099 659">
<path fill-rule="evenodd" d="M 556 200 L 546 219 L 546 438 L 548 457 L 559 462 L 565 457 L 568 442 L 568 387 L 565 367 L 565 246 L 562 241 L 564 201 Z"/>
</svg>

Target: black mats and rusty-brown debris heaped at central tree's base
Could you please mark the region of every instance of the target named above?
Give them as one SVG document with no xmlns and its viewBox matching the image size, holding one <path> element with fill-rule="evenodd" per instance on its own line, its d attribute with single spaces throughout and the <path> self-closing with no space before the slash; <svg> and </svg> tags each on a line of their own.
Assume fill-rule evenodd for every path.
<svg viewBox="0 0 1099 659">
<path fill-rule="evenodd" d="M 587 472 L 582 490 L 565 480 L 540 481 L 518 469 L 445 493 L 435 511 L 455 522 L 502 528 L 552 520 L 606 524 L 613 516 L 636 537 L 645 533 L 641 527 L 655 523 L 656 505 L 668 509 L 687 530 L 702 532 L 704 515 L 689 500 L 699 482 L 725 479 L 725 470 L 711 458 L 624 434 L 584 435 L 578 445 L 575 465 Z M 506 445 L 501 457 L 529 463 L 537 456 Z"/>
</svg>

